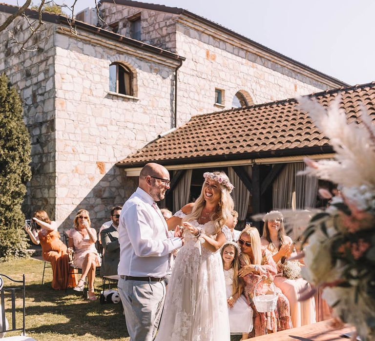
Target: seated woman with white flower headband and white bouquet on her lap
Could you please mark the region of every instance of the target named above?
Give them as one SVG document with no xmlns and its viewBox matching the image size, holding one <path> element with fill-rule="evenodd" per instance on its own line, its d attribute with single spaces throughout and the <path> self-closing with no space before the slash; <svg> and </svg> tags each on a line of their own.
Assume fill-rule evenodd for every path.
<svg viewBox="0 0 375 341">
<path fill-rule="evenodd" d="M 273 282 L 289 301 L 293 327 L 315 323 L 314 298 L 302 302 L 298 301 L 299 291 L 309 284 L 299 276 L 300 263 L 298 261 L 286 261 L 292 252 L 295 252 L 295 249 L 292 239 L 285 233 L 282 213 L 271 211 L 263 217 L 263 221 L 261 242 L 271 252 L 277 265 L 277 275 Z"/>
</svg>

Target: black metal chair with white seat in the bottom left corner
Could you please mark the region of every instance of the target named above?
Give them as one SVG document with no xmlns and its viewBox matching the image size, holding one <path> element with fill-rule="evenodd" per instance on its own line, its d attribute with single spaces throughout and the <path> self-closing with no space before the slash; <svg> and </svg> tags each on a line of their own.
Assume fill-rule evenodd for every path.
<svg viewBox="0 0 375 341">
<path fill-rule="evenodd" d="M 21 283 L 22 286 L 18 287 L 6 287 L 4 288 L 2 286 L 2 279 L 1 277 L 6 277 L 8 280 L 15 282 L 15 283 Z M 16 311 L 18 310 L 16 308 L 16 291 L 17 292 L 22 292 L 22 328 L 17 327 L 16 324 Z M 12 318 L 11 318 L 11 328 L 9 326 L 6 326 L 6 319 L 5 319 L 5 296 L 6 292 L 10 293 L 10 298 L 11 298 L 11 305 L 12 305 Z M 8 277 L 7 275 L 0 274 L 0 302 L 1 302 L 1 309 L 0 309 L 0 315 L 1 315 L 1 324 L 2 327 L 0 328 L 1 333 L 5 332 L 11 332 L 11 331 L 17 331 L 21 330 L 21 336 L 12 336 L 12 337 L 7 337 L 3 338 L 1 340 L 9 340 L 9 341 L 36 341 L 33 338 L 29 338 L 26 336 L 26 331 L 25 331 L 25 275 L 23 274 L 22 276 L 22 281 L 17 281 L 13 280 L 12 278 Z M 9 319 L 8 319 L 9 321 Z"/>
</svg>

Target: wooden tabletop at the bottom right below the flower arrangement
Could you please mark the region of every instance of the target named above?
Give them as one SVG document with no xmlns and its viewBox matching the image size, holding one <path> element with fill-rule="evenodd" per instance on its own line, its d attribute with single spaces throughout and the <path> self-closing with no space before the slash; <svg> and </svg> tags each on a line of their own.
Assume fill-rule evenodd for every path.
<svg viewBox="0 0 375 341">
<path fill-rule="evenodd" d="M 335 329 L 332 323 L 333 320 L 321 321 L 304 325 L 303 327 L 258 336 L 247 339 L 247 341 L 349 341 L 349 339 L 340 337 L 340 335 L 350 333 L 354 328 L 345 325 L 342 328 Z"/>
</svg>

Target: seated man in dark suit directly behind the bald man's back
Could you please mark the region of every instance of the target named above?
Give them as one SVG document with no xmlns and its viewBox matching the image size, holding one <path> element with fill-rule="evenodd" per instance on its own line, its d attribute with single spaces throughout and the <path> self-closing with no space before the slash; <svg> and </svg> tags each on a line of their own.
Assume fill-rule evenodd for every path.
<svg viewBox="0 0 375 341">
<path fill-rule="evenodd" d="M 103 259 L 100 268 L 100 275 L 117 276 L 117 266 L 120 261 L 119 244 L 119 222 L 122 206 L 115 206 L 111 209 L 112 225 L 102 230 L 101 238 L 103 245 Z"/>
</svg>

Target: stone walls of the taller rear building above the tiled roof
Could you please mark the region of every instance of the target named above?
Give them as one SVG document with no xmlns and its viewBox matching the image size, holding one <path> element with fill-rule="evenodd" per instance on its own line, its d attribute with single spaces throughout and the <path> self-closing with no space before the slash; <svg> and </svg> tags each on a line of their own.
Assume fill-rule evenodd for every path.
<svg viewBox="0 0 375 341">
<path fill-rule="evenodd" d="M 231 109 L 237 92 L 251 105 L 339 86 L 293 61 L 185 15 L 107 2 L 102 10 L 106 22 L 118 21 L 118 33 L 125 36 L 129 36 L 126 18 L 141 13 L 141 40 L 186 57 L 178 71 L 178 125 L 195 114 Z M 223 90 L 223 105 L 214 103 L 215 88 Z"/>
</svg>

